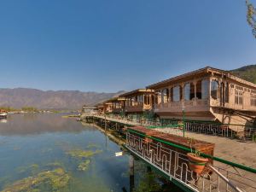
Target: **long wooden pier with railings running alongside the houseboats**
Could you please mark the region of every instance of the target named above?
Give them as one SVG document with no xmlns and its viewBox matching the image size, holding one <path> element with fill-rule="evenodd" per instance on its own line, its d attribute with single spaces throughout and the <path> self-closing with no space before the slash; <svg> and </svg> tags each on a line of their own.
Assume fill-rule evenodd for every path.
<svg viewBox="0 0 256 192">
<path fill-rule="evenodd" d="M 193 131 L 191 127 L 186 127 L 186 123 L 177 128 L 168 128 L 165 122 L 161 121 L 153 123 L 96 113 L 84 115 L 83 119 L 100 126 L 102 130 L 113 130 L 123 136 L 124 147 L 132 155 L 145 161 L 148 166 L 184 191 L 253 192 L 256 190 L 256 162 L 253 157 L 256 143 L 245 138 L 235 139 L 231 137 L 230 131 L 223 129 L 220 134 L 215 130 L 212 131 L 215 134 L 210 135 L 208 132 Z M 190 148 L 168 139 L 170 134 L 172 137 L 183 139 L 193 137 L 215 145 L 214 154 L 213 150 L 211 153 L 201 154 L 210 162 L 207 163 L 205 172 L 199 175 L 189 169 L 186 154 L 189 153 Z"/>
</svg>

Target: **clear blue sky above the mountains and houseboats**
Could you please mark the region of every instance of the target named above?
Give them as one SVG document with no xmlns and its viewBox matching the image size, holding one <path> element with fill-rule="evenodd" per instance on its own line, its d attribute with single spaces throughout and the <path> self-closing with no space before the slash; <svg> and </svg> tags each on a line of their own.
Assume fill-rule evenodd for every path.
<svg viewBox="0 0 256 192">
<path fill-rule="evenodd" d="M 245 0 L 0 1 L 2 88 L 133 90 L 248 64 Z"/>
</svg>

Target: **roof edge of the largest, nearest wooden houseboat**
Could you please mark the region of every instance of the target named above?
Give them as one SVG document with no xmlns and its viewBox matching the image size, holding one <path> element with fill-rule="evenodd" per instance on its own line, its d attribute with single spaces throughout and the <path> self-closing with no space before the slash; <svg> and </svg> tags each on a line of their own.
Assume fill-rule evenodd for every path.
<svg viewBox="0 0 256 192">
<path fill-rule="evenodd" d="M 233 79 L 235 81 L 240 82 L 241 84 L 246 84 L 248 86 L 256 88 L 256 84 L 253 84 L 253 83 L 251 83 L 247 80 L 241 79 L 241 78 L 235 76 L 234 74 L 230 73 L 230 71 L 225 71 L 225 70 L 221 70 L 221 69 L 213 68 L 213 67 L 204 67 L 204 68 L 201 68 L 201 69 L 189 72 L 189 73 L 184 73 L 182 75 L 178 75 L 178 76 L 173 77 L 171 79 L 166 79 L 166 80 L 160 81 L 158 83 L 148 85 L 147 89 L 156 90 L 156 89 L 159 89 L 160 87 L 166 86 L 167 84 L 171 84 L 171 83 L 174 83 L 174 82 L 177 82 L 177 81 L 181 81 L 181 80 L 189 78 L 191 76 L 199 76 L 201 74 L 206 74 L 206 73 L 218 73 L 218 74 L 221 74 L 221 75 L 225 75 L 226 78 L 228 78 L 228 79 Z"/>
</svg>

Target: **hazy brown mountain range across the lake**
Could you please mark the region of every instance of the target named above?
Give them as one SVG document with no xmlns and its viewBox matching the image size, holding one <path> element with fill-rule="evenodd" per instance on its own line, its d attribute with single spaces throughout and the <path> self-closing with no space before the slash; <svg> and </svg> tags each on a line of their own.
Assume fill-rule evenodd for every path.
<svg viewBox="0 0 256 192">
<path fill-rule="evenodd" d="M 0 89 L 0 107 L 41 109 L 79 109 L 82 106 L 93 106 L 98 102 L 119 96 L 117 93 L 82 92 L 79 90 L 35 90 L 28 88 Z"/>
</svg>

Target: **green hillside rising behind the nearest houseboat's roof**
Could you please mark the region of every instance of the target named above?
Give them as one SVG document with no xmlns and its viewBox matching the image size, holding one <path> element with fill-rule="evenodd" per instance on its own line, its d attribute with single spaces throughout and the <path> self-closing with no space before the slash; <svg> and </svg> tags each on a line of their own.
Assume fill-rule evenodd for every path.
<svg viewBox="0 0 256 192">
<path fill-rule="evenodd" d="M 256 84 L 256 65 L 245 66 L 230 71 L 241 79 Z"/>
</svg>

